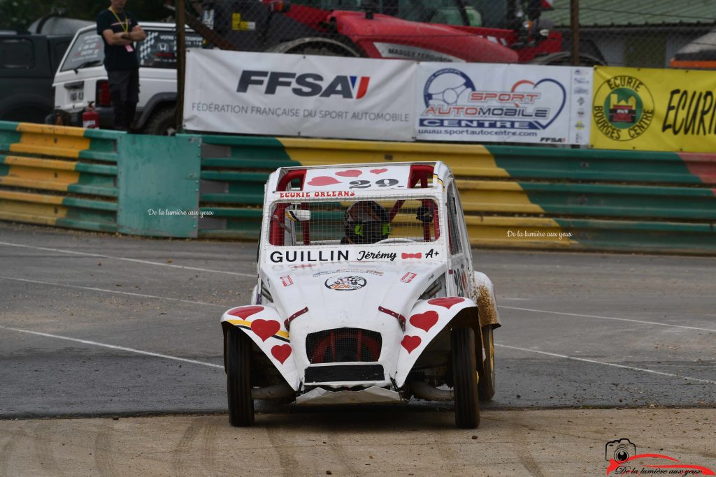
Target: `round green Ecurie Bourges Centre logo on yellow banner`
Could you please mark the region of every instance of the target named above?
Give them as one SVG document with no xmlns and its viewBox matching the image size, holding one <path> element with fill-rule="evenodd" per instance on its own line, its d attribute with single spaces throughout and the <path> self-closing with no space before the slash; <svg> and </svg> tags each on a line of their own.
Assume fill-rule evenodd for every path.
<svg viewBox="0 0 716 477">
<path fill-rule="evenodd" d="M 594 122 L 614 141 L 631 141 L 646 132 L 654 119 L 654 98 L 634 77 L 607 79 L 594 95 Z"/>
</svg>

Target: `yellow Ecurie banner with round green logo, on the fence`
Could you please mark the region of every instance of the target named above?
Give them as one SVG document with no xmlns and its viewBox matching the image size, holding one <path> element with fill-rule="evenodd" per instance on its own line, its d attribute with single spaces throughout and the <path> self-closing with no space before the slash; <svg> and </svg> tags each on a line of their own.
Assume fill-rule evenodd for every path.
<svg viewBox="0 0 716 477">
<path fill-rule="evenodd" d="M 594 68 L 591 147 L 716 152 L 716 72 Z"/>
</svg>

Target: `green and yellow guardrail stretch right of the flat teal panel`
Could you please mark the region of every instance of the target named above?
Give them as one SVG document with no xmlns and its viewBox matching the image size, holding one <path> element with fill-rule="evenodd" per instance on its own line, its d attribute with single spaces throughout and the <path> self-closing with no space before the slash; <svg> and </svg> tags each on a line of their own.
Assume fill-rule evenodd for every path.
<svg viewBox="0 0 716 477">
<path fill-rule="evenodd" d="M 256 237 L 276 167 L 431 160 L 458 177 L 474 245 L 716 253 L 716 155 L 473 144 L 203 136 L 201 205 L 225 222 L 199 235 Z"/>
</svg>

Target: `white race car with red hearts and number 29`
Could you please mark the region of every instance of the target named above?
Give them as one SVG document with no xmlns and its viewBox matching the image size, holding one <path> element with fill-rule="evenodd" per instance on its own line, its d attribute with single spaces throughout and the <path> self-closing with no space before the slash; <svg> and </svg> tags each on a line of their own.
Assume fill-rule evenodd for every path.
<svg viewBox="0 0 716 477">
<path fill-rule="evenodd" d="M 229 421 L 253 400 L 455 403 L 495 393 L 492 282 L 442 162 L 284 167 L 266 184 L 253 304 L 223 314 Z"/>
</svg>

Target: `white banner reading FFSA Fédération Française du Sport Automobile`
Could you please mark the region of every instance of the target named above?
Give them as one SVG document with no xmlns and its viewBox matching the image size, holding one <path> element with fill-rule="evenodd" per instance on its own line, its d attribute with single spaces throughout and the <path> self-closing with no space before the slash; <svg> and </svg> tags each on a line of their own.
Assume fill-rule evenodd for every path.
<svg viewBox="0 0 716 477">
<path fill-rule="evenodd" d="M 184 127 L 410 141 L 415 62 L 190 49 Z"/>
</svg>

